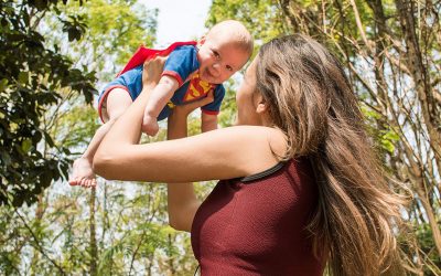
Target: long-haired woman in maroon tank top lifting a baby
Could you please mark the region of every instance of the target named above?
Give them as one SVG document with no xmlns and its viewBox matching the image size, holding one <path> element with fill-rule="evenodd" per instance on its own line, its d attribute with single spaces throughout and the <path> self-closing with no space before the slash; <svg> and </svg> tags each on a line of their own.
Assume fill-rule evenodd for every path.
<svg viewBox="0 0 441 276">
<path fill-rule="evenodd" d="M 333 275 L 396 273 L 391 221 L 400 200 L 381 176 L 342 67 L 321 44 L 303 35 L 265 44 L 237 92 L 238 126 L 138 145 L 161 68 L 154 63 L 94 170 L 175 183 L 171 223 L 192 231 L 203 275 L 322 275 L 326 264 Z M 186 113 L 173 114 L 170 138 L 186 136 Z M 213 179 L 220 181 L 202 204 L 190 183 L 176 183 Z"/>
</svg>

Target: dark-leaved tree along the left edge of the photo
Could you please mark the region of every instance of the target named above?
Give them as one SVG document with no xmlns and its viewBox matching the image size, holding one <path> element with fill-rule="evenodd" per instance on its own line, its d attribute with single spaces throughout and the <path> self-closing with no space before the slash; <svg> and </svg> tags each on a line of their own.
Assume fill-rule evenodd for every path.
<svg viewBox="0 0 441 276">
<path fill-rule="evenodd" d="M 73 67 L 60 45 L 47 45 L 37 31 L 44 17 L 60 12 L 58 2 L 0 3 L 0 204 L 31 204 L 53 180 L 66 174 L 68 150 L 55 147 L 41 128 L 42 116 L 60 102 L 62 88 L 82 94 L 87 104 L 96 93 L 94 73 Z M 60 21 L 71 42 L 86 30 L 82 18 Z M 42 142 L 54 153 L 43 157 Z"/>
</svg>

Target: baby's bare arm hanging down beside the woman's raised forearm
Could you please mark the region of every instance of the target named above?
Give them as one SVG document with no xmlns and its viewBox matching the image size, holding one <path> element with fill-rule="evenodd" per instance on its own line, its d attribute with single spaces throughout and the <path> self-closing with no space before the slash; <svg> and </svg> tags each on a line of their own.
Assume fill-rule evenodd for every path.
<svg viewBox="0 0 441 276">
<path fill-rule="evenodd" d="M 178 88 L 179 83 L 174 77 L 166 75 L 161 77 L 151 93 L 146 106 L 144 117 L 142 120 L 143 132 L 150 136 L 154 136 L 158 132 L 158 116 Z"/>
</svg>

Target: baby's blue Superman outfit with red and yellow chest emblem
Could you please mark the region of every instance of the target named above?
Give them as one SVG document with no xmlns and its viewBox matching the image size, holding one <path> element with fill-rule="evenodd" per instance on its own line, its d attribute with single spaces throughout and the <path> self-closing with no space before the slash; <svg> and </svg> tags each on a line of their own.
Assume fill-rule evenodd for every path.
<svg viewBox="0 0 441 276">
<path fill-rule="evenodd" d="M 214 100 L 201 107 L 201 109 L 203 113 L 212 115 L 219 113 L 220 104 L 225 96 L 225 88 L 222 84 L 211 84 L 201 79 L 198 68 L 197 49 L 194 45 L 179 46 L 170 53 L 162 75 L 174 77 L 180 87 L 174 92 L 169 104 L 162 108 L 158 120 L 169 117 L 175 105 L 185 105 L 206 97 L 209 91 L 214 91 Z M 105 86 L 98 102 L 101 103 L 101 98 L 116 87 L 127 89 L 130 97 L 135 100 L 142 91 L 142 65 L 139 65 L 119 75 Z"/>
</svg>

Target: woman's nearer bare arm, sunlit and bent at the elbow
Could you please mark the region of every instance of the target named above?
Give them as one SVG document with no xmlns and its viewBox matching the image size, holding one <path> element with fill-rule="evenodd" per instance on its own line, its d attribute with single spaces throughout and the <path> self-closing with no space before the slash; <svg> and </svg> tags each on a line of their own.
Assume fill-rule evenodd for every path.
<svg viewBox="0 0 441 276">
<path fill-rule="evenodd" d="M 158 82 L 162 67 L 153 65 L 154 62 L 150 66 L 146 63 L 144 72 Z M 94 171 L 98 174 L 118 180 L 193 182 L 245 177 L 278 162 L 270 142 L 280 131 L 269 127 L 229 127 L 189 138 L 138 145 L 148 99 L 146 85 L 104 138 L 94 158 Z"/>
</svg>

